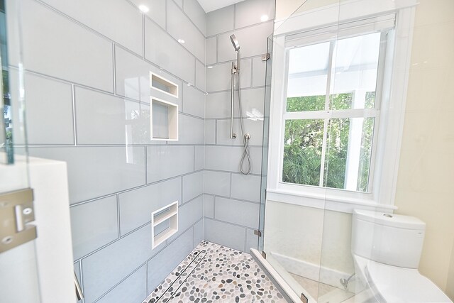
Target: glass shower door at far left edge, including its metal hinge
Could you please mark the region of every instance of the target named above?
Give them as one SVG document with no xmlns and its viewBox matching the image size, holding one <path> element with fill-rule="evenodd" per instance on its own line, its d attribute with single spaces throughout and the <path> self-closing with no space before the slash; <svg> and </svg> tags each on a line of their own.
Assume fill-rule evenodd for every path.
<svg viewBox="0 0 454 303">
<path fill-rule="evenodd" d="M 0 0 L 0 293 L 1 302 L 26 303 L 40 302 L 40 290 L 35 241 L 21 240 L 28 238 L 25 233 L 33 233 L 26 226 L 33 210 L 22 207 L 23 199 L 16 199 L 33 199 L 26 150 L 20 2 Z"/>
</svg>

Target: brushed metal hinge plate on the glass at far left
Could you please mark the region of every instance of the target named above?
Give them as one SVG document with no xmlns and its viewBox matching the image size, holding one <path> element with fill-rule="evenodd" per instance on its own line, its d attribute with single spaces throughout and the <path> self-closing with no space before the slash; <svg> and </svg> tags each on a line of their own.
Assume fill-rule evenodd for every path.
<svg viewBox="0 0 454 303">
<path fill-rule="evenodd" d="M 36 238 L 33 189 L 0 194 L 0 253 Z"/>
</svg>

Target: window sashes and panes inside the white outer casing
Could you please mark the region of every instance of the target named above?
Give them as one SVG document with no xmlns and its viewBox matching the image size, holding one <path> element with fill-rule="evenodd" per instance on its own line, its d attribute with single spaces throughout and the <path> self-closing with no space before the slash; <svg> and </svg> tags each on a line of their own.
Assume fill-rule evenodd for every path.
<svg viewBox="0 0 454 303">
<path fill-rule="evenodd" d="M 385 35 L 287 49 L 282 182 L 370 192 Z"/>
</svg>

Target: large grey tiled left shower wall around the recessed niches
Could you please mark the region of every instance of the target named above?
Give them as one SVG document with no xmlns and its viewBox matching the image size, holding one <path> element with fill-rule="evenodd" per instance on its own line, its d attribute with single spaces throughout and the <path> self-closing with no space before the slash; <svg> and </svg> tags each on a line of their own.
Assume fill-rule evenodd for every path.
<svg viewBox="0 0 454 303">
<path fill-rule="evenodd" d="M 95 2 L 23 1 L 28 142 L 67 162 L 84 303 L 139 302 L 204 238 L 206 14 L 189 0 Z M 178 97 L 150 89 L 150 72 Z M 150 141 L 150 97 L 179 106 L 178 142 Z M 175 201 L 179 232 L 152 250 L 151 212 Z"/>
</svg>

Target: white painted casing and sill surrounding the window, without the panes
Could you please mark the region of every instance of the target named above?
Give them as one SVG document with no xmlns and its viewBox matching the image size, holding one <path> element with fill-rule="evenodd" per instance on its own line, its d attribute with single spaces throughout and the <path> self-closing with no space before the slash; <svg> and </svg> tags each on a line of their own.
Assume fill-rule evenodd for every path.
<svg viewBox="0 0 454 303">
<path fill-rule="evenodd" d="M 321 209 L 348 212 L 354 208 L 393 211 L 394 196 L 399 169 L 399 150 L 404 126 L 404 109 L 406 89 L 408 86 L 409 60 L 411 55 L 411 37 L 413 33 L 414 11 L 416 0 L 351 0 L 340 6 L 326 6 L 321 9 L 306 11 L 292 16 L 275 31 L 273 45 L 273 73 L 270 106 L 270 156 L 268 158 L 267 199 Z M 361 5 L 358 5 L 360 4 Z M 354 9 L 353 9 L 354 8 Z M 339 18 L 339 9 L 343 16 Z M 334 11 L 333 11 L 334 10 Z M 345 14 L 344 14 L 345 11 Z M 382 104 L 379 116 L 378 138 L 380 142 L 372 172 L 371 184 L 373 194 L 348 192 L 323 187 L 311 188 L 282 183 L 282 144 L 284 127 L 284 106 L 282 101 L 286 89 L 286 35 L 311 28 L 332 26 L 333 24 L 379 16 L 384 13 L 396 13 L 396 27 L 389 31 L 385 70 L 382 89 Z M 394 33 L 395 32 L 395 33 Z M 392 38 L 395 37 L 394 43 Z M 390 71 L 390 72 L 389 72 Z M 392 101 L 391 101 L 392 100 Z M 392 106 L 389 106 L 392 104 Z M 372 113 L 370 113 L 372 114 Z M 286 114 L 287 118 L 289 114 Z M 296 116 L 295 116 L 296 117 Z M 294 118 L 292 116 L 292 118 Z M 376 121 L 377 123 L 377 121 Z M 379 167 L 380 166 L 380 167 Z M 324 202 L 324 203 L 323 203 Z M 339 203 L 341 202 L 341 203 Z"/>
</svg>

